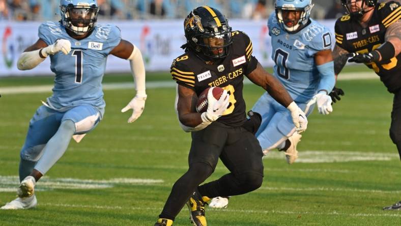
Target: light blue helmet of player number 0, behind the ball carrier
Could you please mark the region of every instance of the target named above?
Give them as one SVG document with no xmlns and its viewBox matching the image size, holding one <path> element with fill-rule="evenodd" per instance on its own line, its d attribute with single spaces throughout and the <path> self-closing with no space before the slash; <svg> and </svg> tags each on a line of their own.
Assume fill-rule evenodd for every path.
<svg viewBox="0 0 401 226">
<path fill-rule="evenodd" d="M 313 6 L 311 0 L 276 0 L 274 5 L 278 23 L 289 33 L 298 32 L 308 23 Z M 300 11 L 301 16 L 298 22 L 296 20 L 286 20 L 283 18 L 283 11 Z M 288 26 L 289 22 L 292 24 L 291 26 Z"/>
</svg>

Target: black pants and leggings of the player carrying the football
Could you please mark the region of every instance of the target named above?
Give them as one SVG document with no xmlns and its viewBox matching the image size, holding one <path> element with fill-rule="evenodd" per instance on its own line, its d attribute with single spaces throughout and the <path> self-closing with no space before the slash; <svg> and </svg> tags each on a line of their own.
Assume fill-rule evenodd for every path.
<svg viewBox="0 0 401 226">
<path fill-rule="evenodd" d="M 244 194 L 259 188 L 263 181 L 262 157 L 256 137 L 243 127 L 214 122 L 192 132 L 189 169 L 173 185 L 160 217 L 174 220 L 196 188 L 209 198 Z M 213 173 L 219 158 L 231 173 L 198 186 Z"/>
</svg>

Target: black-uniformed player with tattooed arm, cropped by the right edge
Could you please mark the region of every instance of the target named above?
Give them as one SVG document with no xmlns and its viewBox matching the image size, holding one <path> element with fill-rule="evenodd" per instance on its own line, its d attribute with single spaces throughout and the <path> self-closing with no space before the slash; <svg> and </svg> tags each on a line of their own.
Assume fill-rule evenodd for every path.
<svg viewBox="0 0 401 226">
<path fill-rule="evenodd" d="M 349 14 L 335 23 L 334 72 L 337 75 L 351 57 L 349 62 L 364 63 L 373 69 L 394 94 L 390 137 L 401 159 L 401 6 L 394 1 L 341 2 Z M 342 90 L 334 89 L 332 97 L 338 91 Z M 383 209 L 401 210 L 401 201 Z"/>
</svg>

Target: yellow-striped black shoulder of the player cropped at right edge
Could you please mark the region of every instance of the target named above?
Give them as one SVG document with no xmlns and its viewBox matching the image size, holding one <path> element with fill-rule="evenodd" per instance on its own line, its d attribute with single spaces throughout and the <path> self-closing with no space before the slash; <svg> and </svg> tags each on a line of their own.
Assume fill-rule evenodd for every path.
<svg viewBox="0 0 401 226">
<path fill-rule="evenodd" d="M 377 8 L 380 18 L 382 19 L 381 23 L 388 27 L 394 22 L 401 19 L 401 7 L 400 4 L 394 1 L 382 3 Z"/>
</svg>

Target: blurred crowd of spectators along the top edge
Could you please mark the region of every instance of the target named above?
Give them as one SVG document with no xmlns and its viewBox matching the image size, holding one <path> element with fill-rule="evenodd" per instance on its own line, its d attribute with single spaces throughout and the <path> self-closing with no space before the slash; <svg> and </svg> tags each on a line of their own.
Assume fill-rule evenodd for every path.
<svg viewBox="0 0 401 226">
<path fill-rule="evenodd" d="M 388 1 L 388 0 L 387 0 Z M 398 0 L 399 1 L 399 0 Z M 98 0 L 99 19 L 184 18 L 193 8 L 208 5 L 227 18 L 266 19 L 275 0 Z M 386 2 L 386 1 L 379 1 Z M 345 12 L 340 0 L 312 0 L 311 17 L 334 19 Z M 58 20 L 58 0 L 0 0 L 0 21 Z"/>
</svg>

